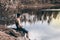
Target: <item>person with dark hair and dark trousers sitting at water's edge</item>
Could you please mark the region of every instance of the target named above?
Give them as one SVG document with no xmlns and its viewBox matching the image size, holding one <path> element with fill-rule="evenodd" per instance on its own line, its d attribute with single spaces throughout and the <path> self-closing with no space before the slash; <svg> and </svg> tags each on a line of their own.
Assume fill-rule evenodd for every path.
<svg viewBox="0 0 60 40">
<path fill-rule="evenodd" d="M 17 27 L 17 31 L 22 31 L 24 34 L 26 34 L 26 37 L 28 37 L 28 31 L 25 30 L 23 28 L 23 25 L 21 24 L 21 14 L 17 14 L 17 17 L 16 17 L 16 27 Z"/>
</svg>

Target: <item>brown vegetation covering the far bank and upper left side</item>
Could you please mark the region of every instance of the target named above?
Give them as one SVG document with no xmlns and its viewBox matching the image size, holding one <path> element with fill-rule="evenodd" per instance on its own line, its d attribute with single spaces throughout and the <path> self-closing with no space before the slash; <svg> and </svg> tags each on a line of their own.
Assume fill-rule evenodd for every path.
<svg viewBox="0 0 60 40">
<path fill-rule="evenodd" d="M 0 0 L 0 24 L 13 24 L 16 13 L 35 13 L 40 9 L 60 8 L 60 0 Z"/>
</svg>

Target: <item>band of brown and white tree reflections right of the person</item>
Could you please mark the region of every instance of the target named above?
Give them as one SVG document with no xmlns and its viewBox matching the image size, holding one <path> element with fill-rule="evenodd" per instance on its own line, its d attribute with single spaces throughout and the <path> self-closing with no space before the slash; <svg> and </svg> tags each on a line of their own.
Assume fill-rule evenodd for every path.
<svg viewBox="0 0 60 40">
<path fill-rule="evenodd" d="M 29 21 L 29 22 L 35 22 L 35 21 L 46 21 L 49 24 L 52 20 L 52 18 L 56 19 L 57 15 L 59 12 L 43 12 L 43 11 L 38 11 L 36 14 L 28 14 L 24 13 L 24 18 L 23 21 Z"/>
</svg>

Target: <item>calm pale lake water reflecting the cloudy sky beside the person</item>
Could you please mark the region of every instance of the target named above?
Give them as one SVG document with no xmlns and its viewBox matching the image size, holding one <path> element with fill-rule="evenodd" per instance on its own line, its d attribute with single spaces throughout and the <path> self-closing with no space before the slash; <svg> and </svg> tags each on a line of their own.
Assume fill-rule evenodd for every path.
<svg viewBox="0 0 60 40">
<path fill-rule="evenodd" d="M 41 14 L 40 14 L 41 15 Z M 59 14 L 44 14 L 35 22 L 26 21 L 22 23 L 23 27 L 29 31 L 31 40 L 60 40 L 60 12 Z M 8 27 L 14 27 L 10 25 Z"/>
</svg>

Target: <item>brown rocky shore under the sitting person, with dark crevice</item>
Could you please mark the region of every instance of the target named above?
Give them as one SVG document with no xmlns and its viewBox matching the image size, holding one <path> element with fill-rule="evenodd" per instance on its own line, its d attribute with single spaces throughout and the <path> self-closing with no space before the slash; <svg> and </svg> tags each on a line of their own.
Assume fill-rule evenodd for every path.
<svg viewBox="0 0 60 40">
<path fill-rule="evenodd" d="M 29 40 L 20 32 L 0 26 L 0 40 Z"/>
</svg>

